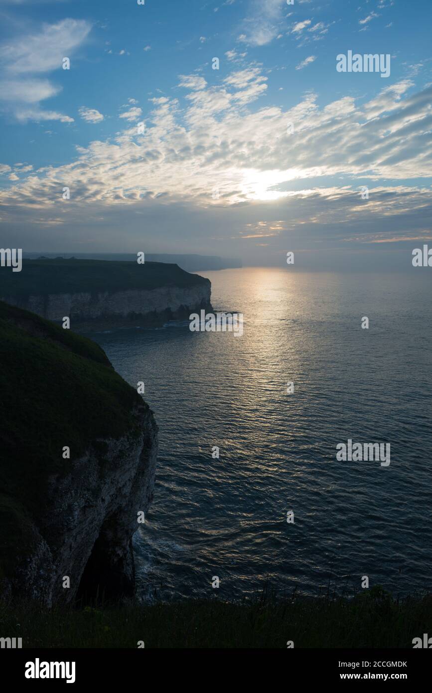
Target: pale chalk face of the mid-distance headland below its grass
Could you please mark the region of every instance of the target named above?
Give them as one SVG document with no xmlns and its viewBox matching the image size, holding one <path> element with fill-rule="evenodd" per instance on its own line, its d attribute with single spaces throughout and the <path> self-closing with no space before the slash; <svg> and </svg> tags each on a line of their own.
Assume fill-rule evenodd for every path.
<svg viewBox="0 0 432 693">
<path fill-rule="evenodd" d="M 145 291 L 32 295 L 27 299 L 4 297 L 2 300 L 54 321 L 61 321 L 65 316 L 75 320 L 126 319 L 131 315 L 157 317 L 167 310 L 172 311 L 174 317 L 194 312 L 210 305 L 210 293 L 208 282 L 199 286 L 163 286 Z"/>
</svg>

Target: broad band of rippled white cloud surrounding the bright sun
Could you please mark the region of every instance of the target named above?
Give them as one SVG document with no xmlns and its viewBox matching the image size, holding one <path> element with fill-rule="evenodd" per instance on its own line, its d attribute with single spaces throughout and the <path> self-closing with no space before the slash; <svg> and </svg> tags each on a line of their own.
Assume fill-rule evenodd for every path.
<svg viewBox="0 0 432 693">
<path fill-rule="evenodd" d="M 106 223 L 109 209 L 114 222 L 121 209 L 121 223 L 129 213 L 131 228 L 137 214 L 165 216 L 170 228 L 181 218 L 190 229 L 198 218 L 218 228 L 230 210 L 229 238 L 255 243 L 262 236 L 266 245 L 299 228 L 369 243 L 420 237 L 430 228 L 430 190 L 417 179 L 432 175 L 432 87 L 415 92 L 403 80 L 366 103 L 345 96 L 323 107 L 309 92 L 284 110 L 260 107 L 267 78 L 256 65 L 218 86 L 197 76 L 182 76 L 181 86 L 184 98 L 150 99 L 145 133 L 131 125 L 114 139 L 77 148 L 70 164 L 12 181 L 0 193 L 3 220 L 31 217 L 46 228 L 67 222 L 84 233 L 89 220 Z M 133 107 L 120 117 L 134 121 L 141 113 Z M 288 122 L 294 134 L 287 134 Z M 358 181 L 366 176 L 375 188 L 365 206 Z M 71 188 L 67 204 L 63 185 Z M 277 225 L 259 225 L 269 218 Z M 258 231 L 251 233 L 246 220 Z"/>
</svg>

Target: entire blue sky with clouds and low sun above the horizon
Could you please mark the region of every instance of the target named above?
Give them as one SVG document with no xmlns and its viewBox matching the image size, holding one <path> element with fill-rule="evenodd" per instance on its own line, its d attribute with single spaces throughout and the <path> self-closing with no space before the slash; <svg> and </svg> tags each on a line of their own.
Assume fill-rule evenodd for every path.
<svg viewBox="0 0 432 693">
<path fill-rule="evenodd" d="M 431 0 L 0 0 L 0 19 L 1 247 L 348 270 L 432 247 Z"/>
</svg>

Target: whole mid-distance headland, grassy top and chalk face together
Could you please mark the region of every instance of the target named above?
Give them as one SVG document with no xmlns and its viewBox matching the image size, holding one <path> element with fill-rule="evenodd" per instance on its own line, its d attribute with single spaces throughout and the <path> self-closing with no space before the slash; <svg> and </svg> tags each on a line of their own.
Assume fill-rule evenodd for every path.
<svg viewBox="0 0 432 693">
<path fill-rule="evenodd" d="M 75 327 L 136 326 L 211 308 L 208 279 L 165 263 L 27 260 L 1 272 L 0 299 Z"/>
</svg>

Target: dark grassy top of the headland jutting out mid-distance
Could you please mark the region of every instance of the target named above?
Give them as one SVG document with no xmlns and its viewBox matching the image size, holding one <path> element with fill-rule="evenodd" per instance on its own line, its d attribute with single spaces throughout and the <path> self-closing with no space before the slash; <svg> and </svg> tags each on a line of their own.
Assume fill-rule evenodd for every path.
<svg viewBox="0 0 432 693">
<path fill-rule="evenodd" d="M 178 265 L 159 262 L 77 260 L 55 258 L 24 260 L 21 272 L 0 272 L 0 297 L 150 290 L 161 286 L 199 286 L 209 283 Z"/>
</svg>

